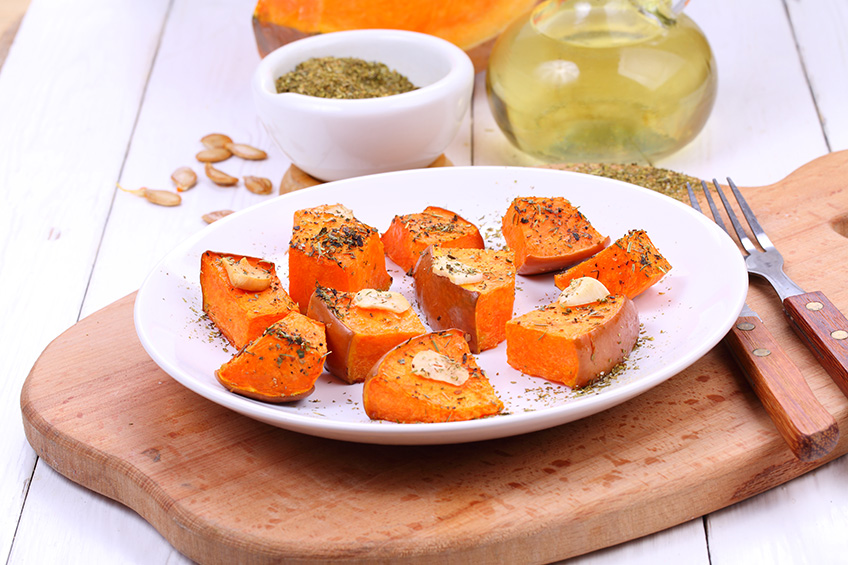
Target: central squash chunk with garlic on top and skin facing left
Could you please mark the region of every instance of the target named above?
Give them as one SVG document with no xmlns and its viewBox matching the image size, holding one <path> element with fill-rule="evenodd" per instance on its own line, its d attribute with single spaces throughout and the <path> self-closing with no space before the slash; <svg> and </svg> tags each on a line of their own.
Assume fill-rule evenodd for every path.
<svg viewBox="0 0 848 565">
<path fill-rule="evenodd" d="M 515 302 L 513 256 L 510 250 L 427 248 L 412 276 L 415 297 L 430 327 L 462 330 L 474 353 L 497 347 L 506 338 Z M 467 268 L 480 280 L 453 282 L 445 269 L 439 274 L 440 263 L 447 271 Z"/>
</svg>

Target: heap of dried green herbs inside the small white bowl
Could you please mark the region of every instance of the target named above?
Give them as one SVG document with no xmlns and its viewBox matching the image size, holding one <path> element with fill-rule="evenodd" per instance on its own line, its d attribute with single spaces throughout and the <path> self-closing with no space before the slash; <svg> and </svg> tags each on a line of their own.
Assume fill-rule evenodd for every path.
<svg viewBox="0 0 848 565">
<path fill-rule="evenodd" d="M 408 78 L 383 63 L 354 57 L 316 57 L 275 81 L 277 92 L 319 98 L 361 99 L 415 90 Z"/>
</svg>

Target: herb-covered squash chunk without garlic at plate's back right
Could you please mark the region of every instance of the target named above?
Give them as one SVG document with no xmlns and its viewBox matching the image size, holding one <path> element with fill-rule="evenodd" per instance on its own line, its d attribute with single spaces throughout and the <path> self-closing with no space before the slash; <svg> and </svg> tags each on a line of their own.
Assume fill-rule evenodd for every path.
<svg viewBox="0 0 848 565">
<path fill-rule="evenodd" d="M 609 244 L 609 237 L 598 233 L 580 210 L 560 196 L 516 198 L 504 214 L 502 227 L 521 275 L 562 269 Z"/>
</svg>

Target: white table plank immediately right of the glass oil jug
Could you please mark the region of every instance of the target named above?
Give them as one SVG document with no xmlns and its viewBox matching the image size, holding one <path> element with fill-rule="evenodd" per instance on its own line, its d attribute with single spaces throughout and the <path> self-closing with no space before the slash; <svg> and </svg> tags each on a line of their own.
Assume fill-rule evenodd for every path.
<svg viewBox="0 0 848 565">
<path fill-rule="evenodd" d="M 711 40 L 718 97 L 701 134 L 658 166 L 761 186 L 827 153 L 781 0 L 692 2 L 687 14 Z"/>
</svg>

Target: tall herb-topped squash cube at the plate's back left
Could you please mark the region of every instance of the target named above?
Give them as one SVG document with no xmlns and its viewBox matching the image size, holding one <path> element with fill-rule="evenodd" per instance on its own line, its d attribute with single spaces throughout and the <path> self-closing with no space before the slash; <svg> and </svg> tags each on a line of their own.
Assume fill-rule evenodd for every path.
<svg viewBox="0 0 848 565">
<path fill-rule="evenodd" d="M 336 290 L 387 290 L 392 277 L 380 234 L 350 210 L 322 205 L 294 213 L 289 244 L 289 294 L 306 313 L 320 285 Z"/>
</svg>

